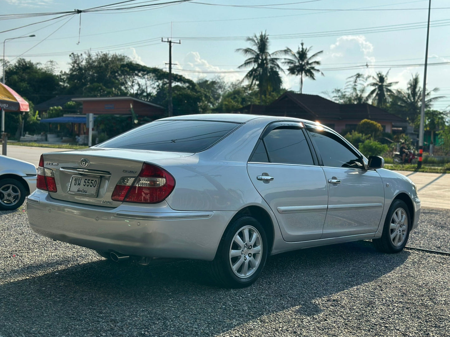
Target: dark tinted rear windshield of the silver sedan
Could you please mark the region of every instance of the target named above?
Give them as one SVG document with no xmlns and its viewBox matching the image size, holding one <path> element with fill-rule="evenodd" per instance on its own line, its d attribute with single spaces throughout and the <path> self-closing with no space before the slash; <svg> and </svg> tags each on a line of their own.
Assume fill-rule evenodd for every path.
<svg viewBox="0 0 450 337">
<path fill-rule="evenodd" d="M 98 145 L 120 149 L 199 152 L 240 124 L 206 120 L 161 120 L 142 125 Z"/>
</svg>

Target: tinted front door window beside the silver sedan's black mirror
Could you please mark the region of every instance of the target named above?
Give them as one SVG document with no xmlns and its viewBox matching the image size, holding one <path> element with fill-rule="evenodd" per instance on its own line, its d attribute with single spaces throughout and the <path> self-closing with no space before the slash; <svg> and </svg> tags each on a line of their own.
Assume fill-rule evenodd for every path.
<svg viewBox="0 0 450 337">
<path fill-rule="evenodd" d="M 324 166 L 364 168 L 360 156 L 337 135 L 322 130 L 308 129 L 324 162 Z"/>
</svg>

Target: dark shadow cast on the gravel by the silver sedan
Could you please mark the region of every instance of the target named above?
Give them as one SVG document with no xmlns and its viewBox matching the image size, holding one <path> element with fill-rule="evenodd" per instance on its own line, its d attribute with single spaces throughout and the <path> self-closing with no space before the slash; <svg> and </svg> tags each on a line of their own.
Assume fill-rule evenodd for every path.
<svg viewBox="0 0 450 337">
<path fill-rule="evenodd" d="M 0 285 L 0 336 L 214 336 L 291 308 L 317 315 L 315 299 L 371 282 L 408 256 L 367 241 L 279 254 L 244 289 L 213 285 L 207 262 L 88 262 Z"/>
</svg>

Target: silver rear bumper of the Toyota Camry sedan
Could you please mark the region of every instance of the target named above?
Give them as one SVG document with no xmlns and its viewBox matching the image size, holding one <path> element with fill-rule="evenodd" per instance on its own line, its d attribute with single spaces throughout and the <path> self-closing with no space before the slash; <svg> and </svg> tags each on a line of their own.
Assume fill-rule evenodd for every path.
<svg viewBox="0 0 450 337">
<path fill-rule="evenodd" d="M 146 205 L 147 206 L 147 205 Z M 174 211 L 122 204 L 117 208 L 56 200 L 36 190 L 27 197 L 30 226 L 51 239 L 105 252 L 211 261 L 231 211 Z"/>
</svg>

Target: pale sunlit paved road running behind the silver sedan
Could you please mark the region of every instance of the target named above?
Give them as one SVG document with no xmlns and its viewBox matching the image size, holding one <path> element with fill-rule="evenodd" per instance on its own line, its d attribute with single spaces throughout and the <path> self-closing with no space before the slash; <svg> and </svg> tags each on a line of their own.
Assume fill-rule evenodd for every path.
<svg viewBox="0 0 450 337">
<path fill-rule="evenodd" d="M 67 151 L 67 149 L 8 145 L 9 156 L 28 161 L 36 167 L 43 152 L 55 151 Z M 450 209 L 450 174 L 397 172 L 409 177 L 417 185 L 423 207 Z"/>
</svg>

